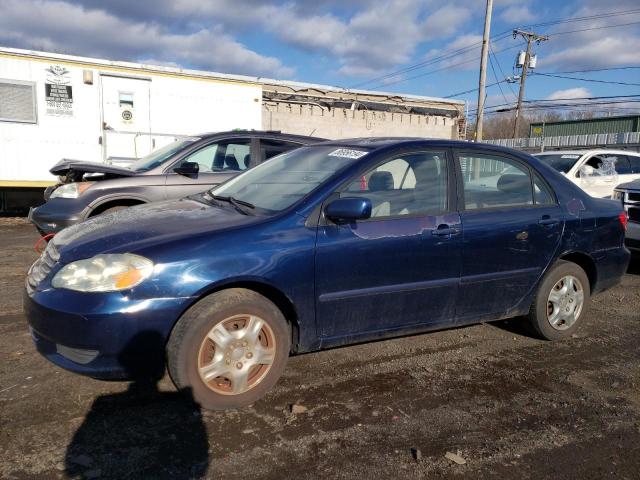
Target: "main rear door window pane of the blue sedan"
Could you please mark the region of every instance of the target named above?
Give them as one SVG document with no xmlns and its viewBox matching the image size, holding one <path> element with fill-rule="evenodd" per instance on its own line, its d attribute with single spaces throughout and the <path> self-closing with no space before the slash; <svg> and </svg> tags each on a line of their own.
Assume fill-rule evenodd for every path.
<svg viewBox="0 0 640 480">
<path fill-rule="evenodd" d="M 467 210 L 533 205 L 529 170 L 505 157 L 461 154 Z"/>
</svg>

